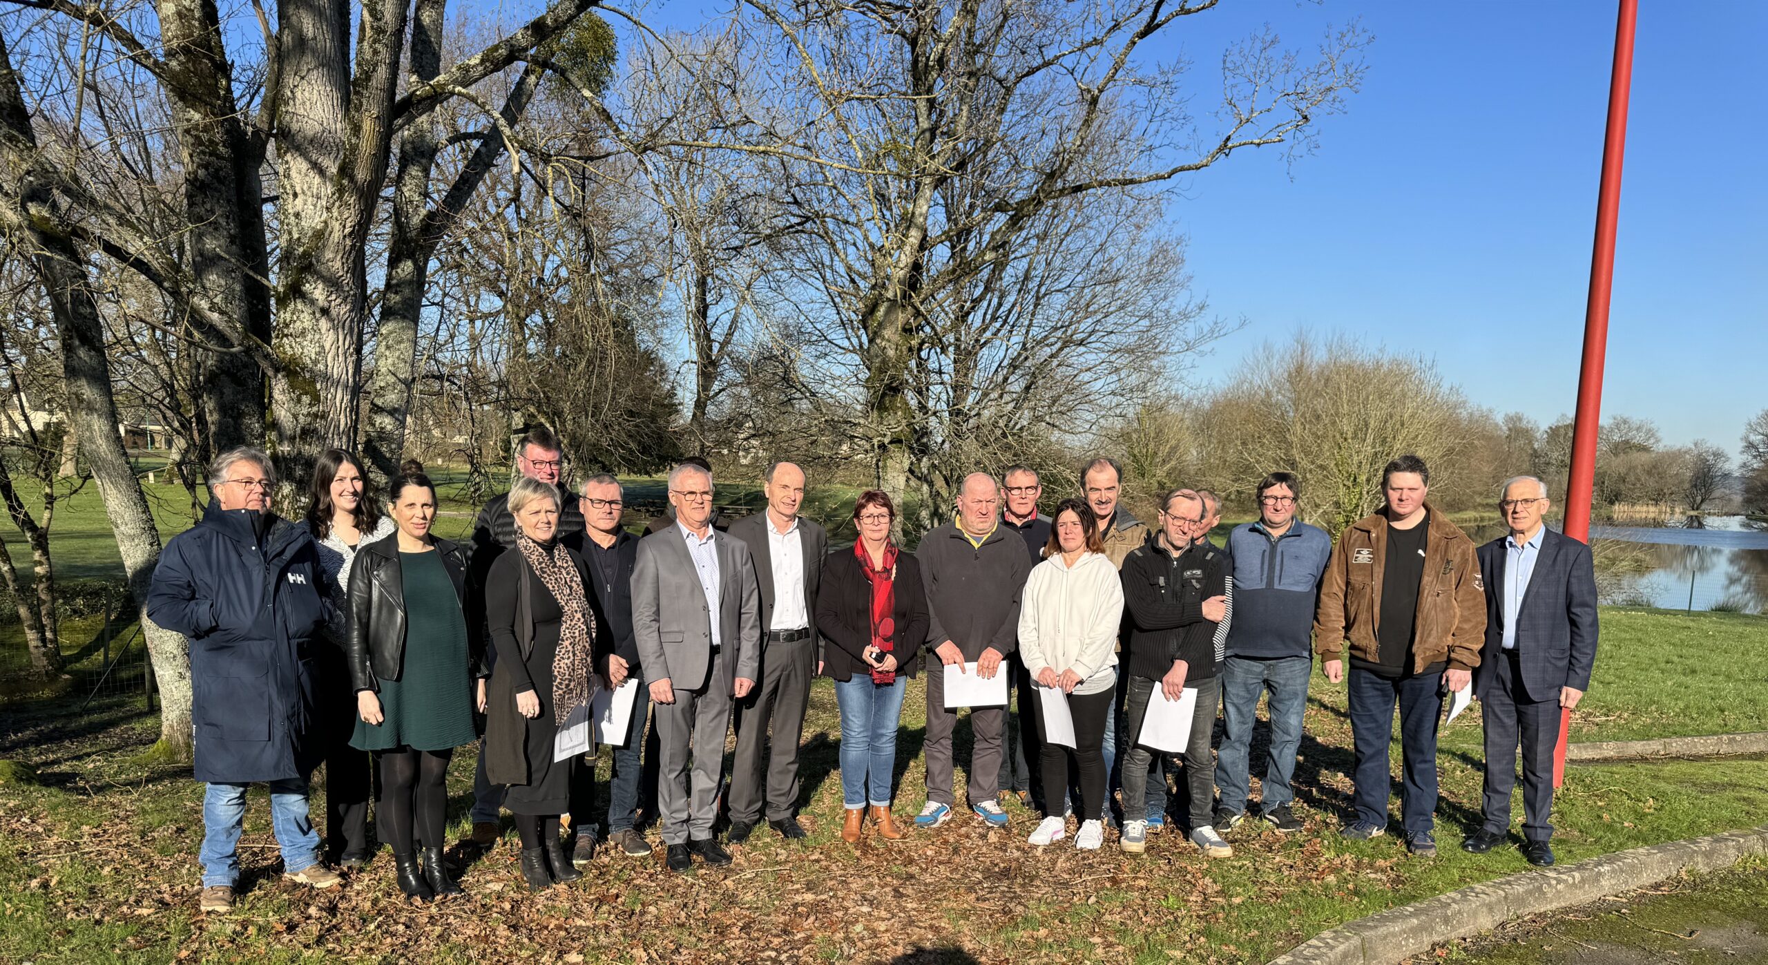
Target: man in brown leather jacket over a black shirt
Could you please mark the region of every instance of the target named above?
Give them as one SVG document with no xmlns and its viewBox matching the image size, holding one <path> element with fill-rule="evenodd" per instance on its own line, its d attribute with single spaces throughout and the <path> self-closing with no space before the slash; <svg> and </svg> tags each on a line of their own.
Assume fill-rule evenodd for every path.
<svg viewBox="0 0 1768 965">
<path fill-rule="evenodd" d="M 1430 470 L 1400 456 L 1381 475 L 1386 497 L 1351 523 L 1326 564 L 1314 652 L 1326 679 L 1344 680 L 1351 647 L 1351 735 L 1356 820 L 1347 838 L 1388 824 L 1388 744 L 1400 707 L 1400 827 L 1413 854 L 1436 854 L 1436 732 L 1446 691 L 1469 686 L 1485 642 L 1485 589 L 1473 541 L 1434 511 Z"/>
</svg>

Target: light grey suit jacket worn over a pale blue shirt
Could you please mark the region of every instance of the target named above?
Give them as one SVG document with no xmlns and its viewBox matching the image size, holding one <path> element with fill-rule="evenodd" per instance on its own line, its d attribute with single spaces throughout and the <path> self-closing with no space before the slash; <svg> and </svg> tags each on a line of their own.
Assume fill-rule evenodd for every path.
<svg viewBox="0 0 1768 965">
<path fill-rule="evenodd" d="M 698 689 L 713 663 L 713 620 L 718 620 L 725 650 L 725 680 L 755 680 L 760 673 L 760 589 L 744 543 L 713 530 L 718 550 L 716 617 L 707 612 L 705 592 L 693 569 L 693 557 L 681 527 L 638 541 L 633 564 L 633 638 L 645 682 L 668 677 L 675 689 Z M 735 656 L 735 659 L 728 659 Z"/>
</svg>

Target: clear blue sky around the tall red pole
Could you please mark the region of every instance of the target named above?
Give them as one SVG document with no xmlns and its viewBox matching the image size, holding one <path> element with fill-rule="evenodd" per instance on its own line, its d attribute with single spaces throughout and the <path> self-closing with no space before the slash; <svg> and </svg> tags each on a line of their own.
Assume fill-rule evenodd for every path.
<svg viewBox="0 0 1768 965">
<path fill-rule="evenodd" d="M 644 16 L 691 27 L 727 2 Z M 1298 331 L 1421 353 L 1494 412 L 1540 422 L 1577 396 L 1612 0 L 1227 0 L 1158 37 L 1193 60 L 1269 23 L 1312 49 L 1374 34 L 1363 90 L 1319 152 L 1241 154 L 1179 186 L 1193 290 L 1246 327 L 1195 378 Z M 1768 407 L 1768 2 L 1646 0 L 1639 14 L 1604 414 L 1736 451 Z M 1754 72 L 1752 72 L 1754 65 Z"/>
</svg>

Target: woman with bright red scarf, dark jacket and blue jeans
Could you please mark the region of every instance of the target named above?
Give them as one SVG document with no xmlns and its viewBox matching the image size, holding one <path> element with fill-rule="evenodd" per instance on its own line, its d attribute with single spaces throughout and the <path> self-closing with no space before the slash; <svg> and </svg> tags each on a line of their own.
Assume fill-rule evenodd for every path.
<svg viewBox="0 0 1768 965">
<path fill-rule="evenodd" d="M 833 643 L 824 649 L 822 673 L 834 679 L 842 707 L 847 843 L 859 841 L 866 804 L 880 838 L 902 838 L 889 813 L 896 726 L 907 679 L 914 677 L 926 640 L 926 590 L 914 555 L 889 539 L 895 520 L 896 505 L 888 495 L 859 493 L 854 504 L 859 541 L 822 560 L 817 592 L 817 629 Z"/>
</svg>

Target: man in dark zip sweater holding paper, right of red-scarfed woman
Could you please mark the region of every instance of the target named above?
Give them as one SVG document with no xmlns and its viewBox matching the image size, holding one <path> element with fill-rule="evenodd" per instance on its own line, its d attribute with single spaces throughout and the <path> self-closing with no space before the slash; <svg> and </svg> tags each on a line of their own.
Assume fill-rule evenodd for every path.
<svg viewBox="0 0 1768 965">
<path fill-rule="evenodd" d="M 976 663 L 976 673 L 1001 673 L 1001 657 L 1018 649 L 1018 596 L 1031 576 L 1025 541 L 999 520 L 1001 484 L 972 472 L 958 490 L 958 523 L 934 527 L 914 551 L 926 583 L 926 643 L 941 665 Z M 1001 732 L 1006 707 L 971 707 L 971 809 L 1001 827 Z M 939 827 L 951 817 L 951 732 L 956 710 L 946 710 L 942 666 L 926 673 L 926 806 L 916 827 Z"/>
</svg>

